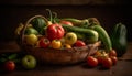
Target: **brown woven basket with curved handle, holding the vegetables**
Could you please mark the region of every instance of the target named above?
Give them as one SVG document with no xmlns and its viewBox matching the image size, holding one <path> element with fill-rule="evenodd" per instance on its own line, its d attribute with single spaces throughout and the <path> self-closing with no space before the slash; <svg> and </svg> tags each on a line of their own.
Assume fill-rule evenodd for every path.
<svg viewBox="0 0 132 76">
<path fill-rule="evenodd" d="M 75 64 L 84 62 L 88 55 L 94 54 L 100 42 L 95 44 L 88 44 L 81 47 L 73 47 L 67 50 L 54 50 L 54 48 L 41 48 L 35 46 L 29 46 L 24 44 L 24 31 L 26 25 L 31 22 L 32 19 L 41 17 L 47 21 L 43 15 L 35 15 L 28 20 L 23 30 L 21 31 L 21 47 L 28 54 L 31 54 L 37 58 L 40 62 L 50 63 L 50 64 Z"/>
</svg>

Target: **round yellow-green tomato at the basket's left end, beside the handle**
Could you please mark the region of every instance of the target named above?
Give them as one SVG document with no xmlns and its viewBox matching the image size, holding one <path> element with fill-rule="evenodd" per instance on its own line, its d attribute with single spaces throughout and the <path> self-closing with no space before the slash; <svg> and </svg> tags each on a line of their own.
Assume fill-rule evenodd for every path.
<svg viewBox="0 0 132 76">
<path fill-rule="evenodd" d="M 37 42 L 38 37 L 35 34 L 30 34 L 30 35 L 25 35 L 25 42 L 29 45 L 35 45 Z"/>
</svg>

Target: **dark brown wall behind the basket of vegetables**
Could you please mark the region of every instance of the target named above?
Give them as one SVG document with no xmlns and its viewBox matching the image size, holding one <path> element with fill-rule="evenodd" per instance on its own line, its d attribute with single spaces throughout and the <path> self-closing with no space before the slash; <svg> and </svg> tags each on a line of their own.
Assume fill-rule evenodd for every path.
<svg viewBox="0 0 132 76">
<path fill-rule="evenodd" d="M 25 23 L 31 17 L 42 14 L 48 18 L 45 9 L 57 12 L 58 18 L 86 19 L 95 17 L 101 25 L 111 33 L 111 29 L 121 22 L 127 25 L 128 40 L 132 41 L 132 12 L 129 0 L 89 0 L 87 2 L 76 2 L 75 0 L 4 0 L 0 1 L 0 42 L 12 41 L 14 30 L 19 23 Z M 59 2 L 61 1 L 61 2 Z M 86 1 L 86 2 L 85 2 Z"/>
</svg>

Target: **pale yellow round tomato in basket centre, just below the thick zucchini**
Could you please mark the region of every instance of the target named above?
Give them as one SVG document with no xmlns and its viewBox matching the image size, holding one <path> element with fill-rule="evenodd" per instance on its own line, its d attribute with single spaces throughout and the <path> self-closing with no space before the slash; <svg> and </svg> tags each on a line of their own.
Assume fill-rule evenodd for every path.
<svg viewBox="0 0 132 76">
<path fill-rule="evenodd" d="M 66 33 L 66 35 L 65 35 L 65 42 L 66 42 L 67 44 L 73 45 L 73 44 L 76 43 L 76 41 L 77 41 L 77 35 L 76 35 L 76 33 L 74 33 L 74 32 L 68 32 L 68 33 Z"/>
</svg>

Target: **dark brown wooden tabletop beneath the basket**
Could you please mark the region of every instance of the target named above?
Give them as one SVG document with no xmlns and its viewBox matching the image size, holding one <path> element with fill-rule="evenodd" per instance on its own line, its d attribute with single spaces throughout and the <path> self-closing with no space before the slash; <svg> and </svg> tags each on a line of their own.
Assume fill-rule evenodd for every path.
<svg viewBox="0 0 132 76">
<path fill-rule="evenodd" d="M 0 43 L 0 53 L 19 52 L 15 42 Z M 87 67 L 86 63 L 75 65 L 37 65 L 32 70 L 25 70 L 18 66 L 14 72 L 0 72 L 0 76 L 132 76 L 132 43 L 128 45 L 128 52 L 119 57 L 118 64 L 110 69 Z"/>
</svg>

